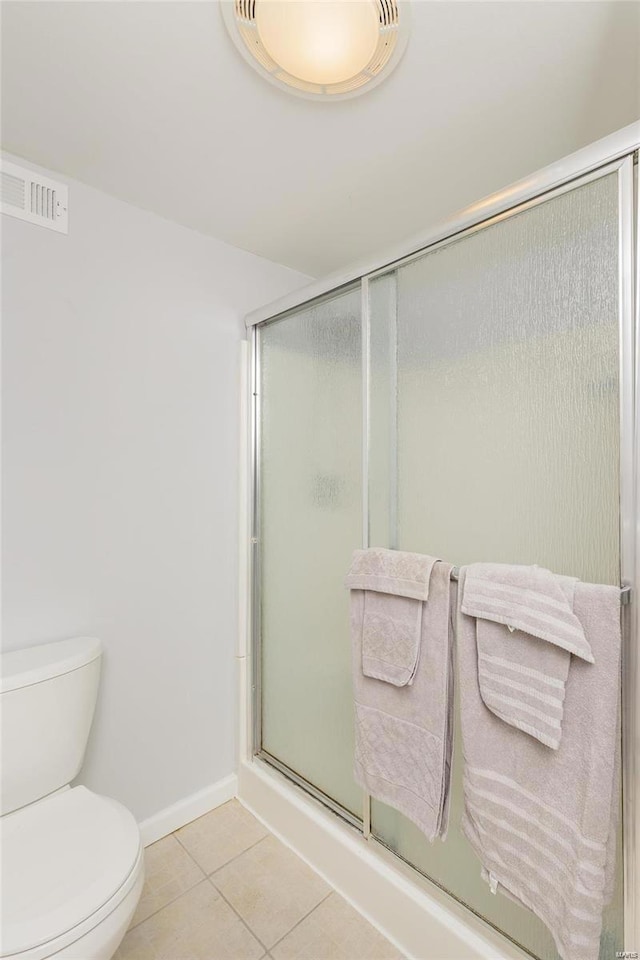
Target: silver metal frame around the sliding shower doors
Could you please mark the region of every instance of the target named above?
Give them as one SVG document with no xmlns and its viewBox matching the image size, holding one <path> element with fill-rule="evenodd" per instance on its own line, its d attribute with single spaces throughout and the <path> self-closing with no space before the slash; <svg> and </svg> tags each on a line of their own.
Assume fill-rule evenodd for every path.
<svg viewBox="0 0 640 960">
<path fill-rule="evenodd" d="M 491 223 L 579 187 L 592 179 L 618 171 L 619 185 L 619 371 L 620 371 L 620 569 L 621 587 L 630 588 L 630 603 L 621 606 L 622 650 L 622 815 L 623 815 L 623 911 L 624 949 L 640 950 L 640 784 L 637 752 L 640 749 L 640 669 L 638 651 L 637 597 L 640 589 L 640 256 L 635 244 L 640 223 L 638 152 L 640 122 L 597 141 L 539 173 L 481 200 L 428 233 L 418 235 L 402 247 L 381 254 L 364 265 L 334 273 L 274 303 L 254 310 L 245 319 L 251 336 L 249 378 L 249 511 L 250 589 L 248 625 L 250 637 L 249 685 L 247 697 L 251 744 L 249 754 L 274 767 L 288 780 L 329 807 L 365 838 L 371 836 L 370 797 L 363 794 L 362 817 L 356 817 L 339 803 L 300 777 L 286 764 L 262 749 L 261 688 L 261 545 L 260 545 L 260 335 L 261 327 L 286 319 L 300 309 L 330 299 L 349 288 L 360 286 L 362 315 L 363 430 L 362 430 L 362 546 L 368 546 L 368 357 L 369 280 L 390 273 L 400 265 L 423 256 L 436 247 L 483 229 Z M 397 856 L 397 855 L 396 855 Z M 416 868 L 414 868 L 416 869 Z M 420 874 L 421 876 L 426 876 Z M 427 880 L 434 883 L 428 876 Z M 437 885 L 437 884 L 436 884 Z M 446 891 L 455 900 L 455 896 Z M 458 903 L 460 901 L 457 901 Z M 470 911 L 472 913 L 472 911 Z M 476 915 L 477 916 L 477 915 Z M 480 918 L 484 923 L 489 921 Z M 494 929 L 499 929 L 493 926 Z M 499 930 L 511 940 L 509 934 Z"/>
</svg>

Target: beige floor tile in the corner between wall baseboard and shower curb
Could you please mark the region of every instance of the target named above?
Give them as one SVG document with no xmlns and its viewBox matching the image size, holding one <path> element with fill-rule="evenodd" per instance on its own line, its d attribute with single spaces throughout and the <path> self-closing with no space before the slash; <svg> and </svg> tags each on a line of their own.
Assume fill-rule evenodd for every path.
<svg viewBox="0 0 640 960">
<path fill-rule="evenodd" d="M 176 836 L 204 872 L 213 873 L 267 833 L 237 800 L 230 800 L 188 823 L 176 831 Z"/>
</svg>

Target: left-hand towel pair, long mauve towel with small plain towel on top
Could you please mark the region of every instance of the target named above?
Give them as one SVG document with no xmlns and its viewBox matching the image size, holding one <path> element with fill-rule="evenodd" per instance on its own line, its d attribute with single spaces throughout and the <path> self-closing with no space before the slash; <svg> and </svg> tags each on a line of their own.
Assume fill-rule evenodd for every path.
<svg viewBox="0 0 640 960">
<path fill-rule="evenodd" d="M 452 752 L 451 566 L 358 550 L 351 589 L 354 774 L 429 840 L 446 835 Z"/>
</svg>

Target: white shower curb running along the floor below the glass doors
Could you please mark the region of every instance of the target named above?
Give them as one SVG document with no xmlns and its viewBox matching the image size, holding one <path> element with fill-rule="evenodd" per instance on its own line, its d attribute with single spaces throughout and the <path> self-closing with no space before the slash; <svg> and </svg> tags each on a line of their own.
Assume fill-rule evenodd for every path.
<svg viewBox="0 0 640 960">
<path fill-rule="evenodd" d="M 238 799 L 404 957 L 528 957 L 381 844 L 365 840 L 267 764 L 259 760 L 240 764 Z"/>
</svg>

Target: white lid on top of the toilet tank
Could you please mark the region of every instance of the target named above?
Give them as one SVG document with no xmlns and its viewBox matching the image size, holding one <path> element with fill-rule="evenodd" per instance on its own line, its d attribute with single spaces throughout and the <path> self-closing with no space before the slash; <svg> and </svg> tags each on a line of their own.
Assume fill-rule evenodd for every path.
<svg viewBox="0 0 640 960">
<path fill-rule="evenodd" d="M 73 637 L 0 654 L 0 693 L 51 680 L 83 667 L 102 653 L 97 637 Z"/>
</svg>

